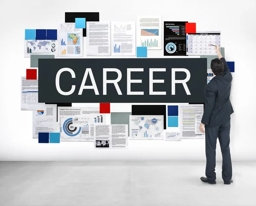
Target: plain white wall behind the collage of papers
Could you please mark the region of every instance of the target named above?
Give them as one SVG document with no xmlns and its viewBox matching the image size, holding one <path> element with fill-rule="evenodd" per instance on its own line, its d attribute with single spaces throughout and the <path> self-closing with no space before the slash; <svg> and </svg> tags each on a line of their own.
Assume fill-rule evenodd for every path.
<svg viewBox="0 0 256 206">
<path fill-rule="evenodd" d="M 94 150 L 92 142 L 38 144 L 32 139 L 32 111 L 20 110 L 24 29 L 55 29 L 64 12 L 100 12 L 102 21 L 136 21 L 137 15 L 162 15 L 163 21 L 197 23 L 198 31 L 221 30 L 227 61 L 235 61 L 231 101 L 233 160 L 256 160 L 255 11 L 253 0 L 30 0 L 0 1 L 0 160 L 205 160 L 204 140 L 129 142 L 128 150 Z M 86 44 L 86 41 L 84 41 Z M 86 45 L 84 44 L 85 48 Z M 86 54 L 86 52 L 84 52 Z M 86 58 L 86 57 L 84 57 Z M 111 58 L 111 57 L 110 57 Z M 148 51 L 163 58 L 163 50 Z M 95 104 L 98 105 L 98 104 Z M 131 104 L 111 104 L 111 111 L 131 111 Z M 217 160 L 221 160 L 217 145 Z"/>
</svg>

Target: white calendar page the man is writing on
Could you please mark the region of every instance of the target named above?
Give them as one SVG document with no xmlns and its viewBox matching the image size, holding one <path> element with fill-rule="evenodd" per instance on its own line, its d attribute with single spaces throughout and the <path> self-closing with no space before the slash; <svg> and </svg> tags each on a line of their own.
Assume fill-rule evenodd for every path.
<svg viewBox="0 0 256 206">
<path fill-rule="evenodd" d="M 216 55 L 215 46 L 221 46 L 221 33 L 187 34 L 187 55 Z"/>
</svg>

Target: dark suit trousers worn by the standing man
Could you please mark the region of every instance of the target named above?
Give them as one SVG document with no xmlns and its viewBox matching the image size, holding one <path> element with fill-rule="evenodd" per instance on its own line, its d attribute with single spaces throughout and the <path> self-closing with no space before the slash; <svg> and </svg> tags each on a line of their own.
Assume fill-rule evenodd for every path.
<svg viewBox="0 0 256 206">
<path fill-rule="evenodd" d="M 232 163 L 230 156 L 230 120 L 223 125 L 208 128 L 205 127 L 205 174 L 209 180 L 216 180 L 216 144 L 219 139 L 222 154 L 222 179 L 230 181 L 232 178 Z"/>
</svg>

